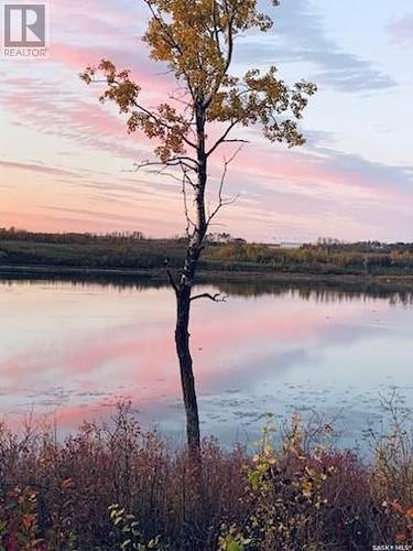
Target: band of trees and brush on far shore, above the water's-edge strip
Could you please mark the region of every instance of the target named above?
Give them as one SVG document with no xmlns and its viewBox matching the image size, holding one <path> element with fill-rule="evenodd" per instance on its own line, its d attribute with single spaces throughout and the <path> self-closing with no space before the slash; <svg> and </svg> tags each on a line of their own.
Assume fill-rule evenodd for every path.
<svg viewBox="0 0 413 551">
<path fill-rule="evenodd" d="M 186 238 L 154 239 L 141 231 L 45 234 L 0 228 L 0 266 L 44 264 L 93 268 L 180 267 Z M 302 273 L 410 274 L 413 244 L 341 242 L 320 239 L 296 248 L 247 242 L 228 234 L 209 235 L 204 269 Z"/>
</svg>

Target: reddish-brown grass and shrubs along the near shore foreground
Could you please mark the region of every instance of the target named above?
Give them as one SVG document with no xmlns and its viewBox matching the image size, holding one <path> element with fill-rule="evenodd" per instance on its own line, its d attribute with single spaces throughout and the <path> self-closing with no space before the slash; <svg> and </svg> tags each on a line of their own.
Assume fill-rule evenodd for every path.
<svg viewBox="0 0 413 551">
<path fill-rule="evenodd" d="M 0 549 L 366 550 L 412 543 L 413 444 L 403 423 L 374 461 L 322 445 L 328 425 L 294 418 L 282 444 L 267 428 L 256 455 L 205 441 L 185 450 L 143 433 L 120 408 L 109 426 L 0 429 Z M 402 549 L 402 548 L 400 548 Z"/>
</svg>

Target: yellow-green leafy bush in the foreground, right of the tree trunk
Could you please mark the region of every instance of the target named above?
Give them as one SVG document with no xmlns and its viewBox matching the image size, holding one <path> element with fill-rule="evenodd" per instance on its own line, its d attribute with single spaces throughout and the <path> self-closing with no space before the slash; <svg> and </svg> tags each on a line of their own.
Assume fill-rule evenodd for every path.
<svg viewBox="0 0 413 551">
<path fill-rule="evenodd" d="M 322 465 L 317 454 L 304 452 L 298 415 L 293 418 L 280 450 L 273 445 L 271 423 L 272 417 L 268 415 L 258 452 L 247 468 L 244 499 L 250 515 L 246 526 L 242 533 L 232 527 L 224 534 L 220 549 L 281 551 L 294 549 L 296 541 L 305 542 L 302 549 L 324 549 L 317 541 L 316 527 L 327 504 L 323 485 L 334 469 Z"/>
</svg>

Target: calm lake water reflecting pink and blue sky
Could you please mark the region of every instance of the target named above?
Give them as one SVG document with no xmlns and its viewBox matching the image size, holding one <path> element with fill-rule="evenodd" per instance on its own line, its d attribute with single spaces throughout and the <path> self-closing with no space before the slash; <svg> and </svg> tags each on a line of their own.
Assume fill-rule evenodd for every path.
<svg viewBox="0 0 413 551">
<path fill-rule="evenodd" d="M 194 303 L 204 434 L 246 442 L 262 413 L 296 408 L 339 414 L 343 442 L 354 442 L 380 415 L 380 393 L 398 388 L 413 403 L 409 296 L 225 291 L 225 304 Z M 184 440 L 167 288 L 0 282 L 0 415 L 9 423 L 53 414 L 65 433 L 130 399 L 143 424 Z"/>
</svg>

